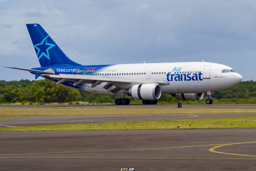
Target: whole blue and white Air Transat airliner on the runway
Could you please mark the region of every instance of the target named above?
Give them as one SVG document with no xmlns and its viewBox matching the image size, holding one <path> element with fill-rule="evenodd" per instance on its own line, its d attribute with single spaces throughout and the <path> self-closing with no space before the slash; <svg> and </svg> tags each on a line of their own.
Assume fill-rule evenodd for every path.
<svg viewBox="0 0 256 171">
<path fill-rule="evenodd" d="M 125 95 L 156 104 L 161 94 L 180 100 L 201 100 L 212 92 L 241 82 L 243 77 L 232 68 L 209 62 L 81 65 L 70 60 L 39 24 L 26 24 L 41 67 L 24 69 L 35 75 L 89 92 L 120 94 L 115 104 L 129 104 Z"/>
</svg>

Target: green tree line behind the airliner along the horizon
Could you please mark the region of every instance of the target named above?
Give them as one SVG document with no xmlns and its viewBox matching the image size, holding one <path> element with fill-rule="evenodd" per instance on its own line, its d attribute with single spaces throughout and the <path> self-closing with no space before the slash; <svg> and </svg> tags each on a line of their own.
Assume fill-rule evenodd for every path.
<svg viewBox="0 0 256 171">
<path fill-rule="evenodd" d="M 205 93 L 206 94 L 206 93 Z M 78 90 L 65 85 L 56 85 L 48 79 L 30 81 L 0 81 L 0 103 L 24 103 L 24 104 L 44 104 L 44 103 L 72 103 L 74 101 L 86 101 L 89 103 L 114 103 L 117 95 L 104 95 L 83 90 Z M 126 96 L 134 101 L 130 96 Z M 244 81 L 233 87 L 221 91 L 215 91 L 215 99 L 251 99 L 256 97 L 256 82 Z M 139 103 L 139 100 L 137 100 Z M 162 94 L 159 99 L 162 103 L 176 103 L 175 97 L 169 94 Z"/>
</svg>

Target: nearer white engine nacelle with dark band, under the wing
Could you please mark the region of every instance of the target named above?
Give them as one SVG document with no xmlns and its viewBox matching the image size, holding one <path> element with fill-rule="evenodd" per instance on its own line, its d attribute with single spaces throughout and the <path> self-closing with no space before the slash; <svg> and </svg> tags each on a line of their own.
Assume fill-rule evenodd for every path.
<svg viewBox="0 0 256 171">
<path fill-rule="evenodd" d="M 158 84 L 138 84 L 133 85 L 127 94 L 134 99 L 157 100 L 161 97 L 161 93 L 161 87 Z"/>
</svg>

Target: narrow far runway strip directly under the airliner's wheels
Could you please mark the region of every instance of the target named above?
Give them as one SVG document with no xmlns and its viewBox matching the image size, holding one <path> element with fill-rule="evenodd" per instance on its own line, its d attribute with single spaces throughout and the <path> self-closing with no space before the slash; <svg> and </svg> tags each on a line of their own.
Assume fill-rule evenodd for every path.
<svg viewBox="0 0 256 171">
<path fill-rule="evenodd" d="M 87 104 L 72 104 L 72 105 L 0 105 L 0 108 L 41 108 L 41 107 L 48 107 L 48 108 L 75 108 L 75 107 L 89 107 L 89 108 L 95 108 L 95 107 L 106 107 L 106 108 L 116 108 L 116 107 L 177 107 L 177 104 L 156 104 L 156 105 L 87 105 Z M 182 107 L 239 107 L 239 108 L 248 108 L 248 107 L 256 107 L 256 104 L 182 104 Z"/>
</svg>

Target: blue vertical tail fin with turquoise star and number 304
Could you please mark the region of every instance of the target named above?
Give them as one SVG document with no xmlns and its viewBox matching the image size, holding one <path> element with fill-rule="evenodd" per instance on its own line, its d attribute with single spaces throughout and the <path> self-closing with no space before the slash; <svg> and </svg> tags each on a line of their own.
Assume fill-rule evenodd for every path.
<svg viewBox="0 0 256 171">
<path fill-rule="evenodd" d="M 70 60 L 40 24 L 26 24 L 41 67 L 81 65 Z"/>
</svg>

